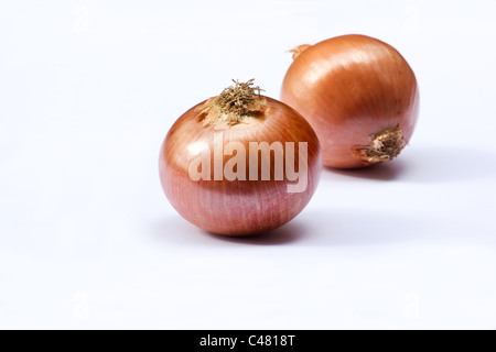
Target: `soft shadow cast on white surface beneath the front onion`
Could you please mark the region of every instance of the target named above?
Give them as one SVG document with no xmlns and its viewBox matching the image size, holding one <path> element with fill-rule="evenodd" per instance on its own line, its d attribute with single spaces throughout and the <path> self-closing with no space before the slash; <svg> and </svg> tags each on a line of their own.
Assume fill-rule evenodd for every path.
<svg viewBox="0 0 496 352">
<path fill-rule="evenodd" d="M 432 224 L 431 224 L 432 226 Z M 225 237 L 206 232 L 179 215 L 157 222 L 151 228 L 154 241 L 172 245 L 375 245 L 425 238 L 423 222 L 387 213 L 306 211 L 279 229 L 252 237 Z"/>
</svg>

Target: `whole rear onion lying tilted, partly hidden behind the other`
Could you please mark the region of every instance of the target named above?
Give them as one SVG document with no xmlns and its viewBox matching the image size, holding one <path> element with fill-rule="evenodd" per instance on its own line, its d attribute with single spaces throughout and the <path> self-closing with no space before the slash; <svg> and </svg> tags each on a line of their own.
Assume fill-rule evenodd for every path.
<svg viewBox="0 0 496 352">
<path fill-rule="evenodd" d="M 417 123 L 419 89 L 392 46 L 343 35 L 292 52 L 281 100 L 314 128 L 324 165 L 358 168 L 399 155 Z"/>
</svg>

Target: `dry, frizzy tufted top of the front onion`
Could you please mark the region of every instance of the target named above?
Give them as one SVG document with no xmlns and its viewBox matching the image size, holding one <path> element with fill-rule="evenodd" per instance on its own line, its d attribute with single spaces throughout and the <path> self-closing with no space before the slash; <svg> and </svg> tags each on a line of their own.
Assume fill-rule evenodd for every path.
<svg viewBox="0 0 496 352">
<path fill-rule="evenodd" d="M 260 96 L 262 89 L 254 87 L 254 79 L 247 82 L 233 81 L 235 86 L 224 89 L 219 96 L 208 99 L 196 108 L 204 125 L 227 130 L 233 125 L 246 123 L 266 111 L 267 100 Z"/>
</svg>

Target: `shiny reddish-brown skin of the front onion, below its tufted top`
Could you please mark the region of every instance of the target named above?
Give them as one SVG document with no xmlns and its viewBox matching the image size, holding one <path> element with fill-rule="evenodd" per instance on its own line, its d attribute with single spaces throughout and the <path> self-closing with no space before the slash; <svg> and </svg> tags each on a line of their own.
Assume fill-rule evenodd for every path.
<svg viewBox="0 0 496 352">
<path fill-rule="evenodd" d="M 198 107 L 205 105 L 202 102 L 173 124 L 162 144 L 160 179 L 169 201 L 184 219 L 208 232 L 249 235 L 276 229 L 300 213 L 315 191 L 322 169 L 322 152 L 315 132 L 292 108 L 268 97 L 265 99 L 263 116 L 227 130 L 202 124 L 197 113 Z M 285 177 L 283 180 L 192 180 L 188 166 L 195 150 L 208 145 L 213 151 L 215 133 L 223 134 L 224 143 L 242 143 L 247 151 L 249 142 L 308 142 L 306 189 L 288 193 L 287 186 L 293 183 Z M 229 157 L 224 156 L 224 165 Z M 247 153 L 247 174 L 248 166 Z M 273 175 L 273 158 L 270 169 Z M 213 179 L 214 166 L 211 170 Z"/>
</svg>

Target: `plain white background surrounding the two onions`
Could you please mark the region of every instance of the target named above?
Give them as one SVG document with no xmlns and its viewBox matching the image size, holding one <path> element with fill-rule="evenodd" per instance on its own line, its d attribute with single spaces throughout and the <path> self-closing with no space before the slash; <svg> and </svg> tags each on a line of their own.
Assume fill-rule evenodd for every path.
<svg viewBox="0 0 496 352">
<path fill-rule="evenodd" d="M 348 33 L 418 76 L 403 154 L 262 238 L 183 220 L 175 119 Z M 0 328 L 496 328 L 495 43 L 494 0 L 0 0 Z"/>
</svg>

